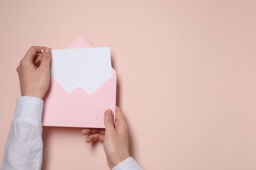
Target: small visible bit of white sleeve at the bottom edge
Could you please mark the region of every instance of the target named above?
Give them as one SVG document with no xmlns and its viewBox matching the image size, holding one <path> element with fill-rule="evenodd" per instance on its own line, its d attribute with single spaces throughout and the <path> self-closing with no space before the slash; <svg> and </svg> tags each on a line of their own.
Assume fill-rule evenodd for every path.
<svg viewBox="0 0 256 170">
<path fill-rule="evenodd" d="M 118 163 L 116 167 L 112 168 L 112 170 L 142 170 L 142 168 L 132 157 L 129 157 Z"/>
</svg>

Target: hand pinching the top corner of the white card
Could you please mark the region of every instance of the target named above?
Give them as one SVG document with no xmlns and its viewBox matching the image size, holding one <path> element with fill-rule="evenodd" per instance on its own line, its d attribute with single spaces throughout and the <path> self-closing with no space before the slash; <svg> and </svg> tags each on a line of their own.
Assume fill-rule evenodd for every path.
<svg viewBox="0 0 256 170">
<path fill-rule="evenodd" d="M 50 48 L 32 46 L 28 50 L 17 67 L 22 96 L 43 98 L 50 83 L 50 63 Z"/>
</svg>

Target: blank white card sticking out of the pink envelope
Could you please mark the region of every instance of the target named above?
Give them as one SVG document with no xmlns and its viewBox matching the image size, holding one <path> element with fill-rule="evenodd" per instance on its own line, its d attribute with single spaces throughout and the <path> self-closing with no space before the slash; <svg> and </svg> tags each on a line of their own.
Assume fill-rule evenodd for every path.
<svg viewBox="0 0 256 170">
<path fill-rule="evenodd" d="M 71 93 L 81 87 L 89 95 L 112 77 L 110 48 L 51 50 L 51 76 Z"/>
</svg>

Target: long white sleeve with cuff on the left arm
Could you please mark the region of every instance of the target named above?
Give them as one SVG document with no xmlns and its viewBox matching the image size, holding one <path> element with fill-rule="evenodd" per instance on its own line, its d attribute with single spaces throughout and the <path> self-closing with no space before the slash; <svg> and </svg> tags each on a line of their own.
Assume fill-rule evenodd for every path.
<svg viewBox="0 0 256 170">
<path fill-rule="evenodd" d="M 1 169 L 41 169 L 43 100 L 18 97 Z"/>
</svg>

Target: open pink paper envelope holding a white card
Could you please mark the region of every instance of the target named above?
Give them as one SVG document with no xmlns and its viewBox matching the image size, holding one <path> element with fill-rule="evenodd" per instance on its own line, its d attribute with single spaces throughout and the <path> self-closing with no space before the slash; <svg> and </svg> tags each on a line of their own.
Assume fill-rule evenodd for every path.
<svg viewBox="0 0 256 170">
<path fill-rule="evenodd" d="M 68 48 L 92 48 L 83 37 L 79 37 Z M 104 128 L 104 112 L 116 112 L 116 71 L 112 77 L 89 95 L 83 88 L 68 94 L 53 77 L 44 97 L 43 126 Z"/>
</svg>

